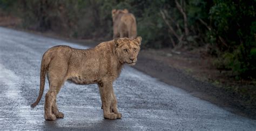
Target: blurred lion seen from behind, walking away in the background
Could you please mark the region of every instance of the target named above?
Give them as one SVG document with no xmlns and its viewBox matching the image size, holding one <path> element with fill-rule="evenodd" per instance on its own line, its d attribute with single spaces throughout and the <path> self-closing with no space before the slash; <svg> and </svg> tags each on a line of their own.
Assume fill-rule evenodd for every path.
<svg viewBox="0 0 256 131">
<path fill-rule="evenodd" d="M 137 37 L 136 19 L 127 9 L 112 10 L 113 18 L 113 39 L 114 38 L 131 38 Z"/>
</svg>

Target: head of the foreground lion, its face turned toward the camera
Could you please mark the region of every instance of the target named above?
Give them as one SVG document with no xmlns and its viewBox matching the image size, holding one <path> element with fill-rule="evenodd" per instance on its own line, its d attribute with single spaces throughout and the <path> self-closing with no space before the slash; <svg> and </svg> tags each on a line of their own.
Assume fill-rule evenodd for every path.
<svg viewBox="0 0 256 131">
<path fill-rule="evenodd" d="M 137 56 L 140 50 L 140 42 L 142 37 L 130 38 L 116 38 L 114 44 L 116 53 L 121 63 L 127 63 L 134 66 L 137 62 Z"/>
</svg>

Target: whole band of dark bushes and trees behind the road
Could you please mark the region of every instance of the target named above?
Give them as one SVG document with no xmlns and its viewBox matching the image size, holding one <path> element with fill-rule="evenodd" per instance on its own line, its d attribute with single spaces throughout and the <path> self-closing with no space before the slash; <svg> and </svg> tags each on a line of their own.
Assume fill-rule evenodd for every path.
<svg viewBox="0 0 256 131">
<path fill-rule="evenodd" d="M 0 0 L 0 8 L 22 18 L 22 27 L 67 37 L 112 38 L 112 9 L 137 18 L 143 48 L 208 45 L 215 67 L 237 79 L 256 78 L 256 1 L 242 0 Z"/>
</svg>

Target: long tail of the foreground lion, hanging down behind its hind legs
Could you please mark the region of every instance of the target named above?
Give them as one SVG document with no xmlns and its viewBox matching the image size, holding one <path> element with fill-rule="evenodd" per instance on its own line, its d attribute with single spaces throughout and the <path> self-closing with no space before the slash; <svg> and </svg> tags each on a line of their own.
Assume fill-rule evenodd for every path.
<svg viewBox="0 0 256 131">
<path fill-rule="evenodd" d="M 44 84 L 45 84 L 45 74 L 46 74 L 46 70 L 48 68 L 50 61 L 51 61 L 51 58 L 49 57 L 48 52 L 45 52 L 42 57 L 42 62 L 41 62 L 40 90 L 39 90 L 39 94 L 38 94 L 36 102 L 31 104 L 32 108 L 35 107 L 39 103 L 39 101 L 41 100 L 41 98 L 43 96 Z"/>
</svg>

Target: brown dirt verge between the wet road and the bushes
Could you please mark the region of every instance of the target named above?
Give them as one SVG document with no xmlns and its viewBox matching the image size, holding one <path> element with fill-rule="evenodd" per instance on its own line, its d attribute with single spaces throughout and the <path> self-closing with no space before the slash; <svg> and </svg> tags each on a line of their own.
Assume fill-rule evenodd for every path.
<svg viewBox="0 0 256 131">
<path fill-rule="evenodd" d="M 13 20 L 12 20 L 13 19 Z M 8 21 L 13 21 L 12 23 Z M 0 26 L 17 28 L 21 21 L 17 18 L 0 15 Z M 80 45 L 95 47 L 98 40 L 77 40 L 64 38 L 54 32 L 36 32 L 22 30 L 34 34 L 44 35 L 56 39 L 79 43 Z M 138 62 L 134 68 L 158 78 L 167 84 L 186 90 L 195 97 L 210 101 L 233 113 L 256 119 L 256 104 L 248 98 L 255 93 L 255 83 L 247 81 L 234 81 L 228 71 L 219 71 L 212 65 L 212 58 L 201 50 L 181 54 L 171 52 L 171 49 L 142 49 Z M 242 95 L 241 89 L 249 94 Z"/>
</svg>

